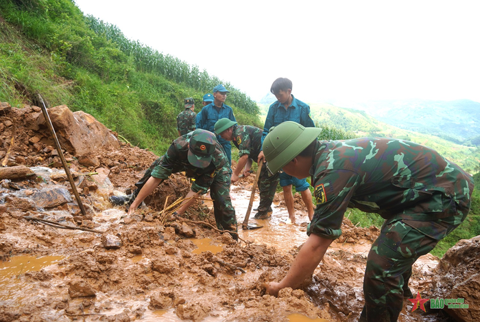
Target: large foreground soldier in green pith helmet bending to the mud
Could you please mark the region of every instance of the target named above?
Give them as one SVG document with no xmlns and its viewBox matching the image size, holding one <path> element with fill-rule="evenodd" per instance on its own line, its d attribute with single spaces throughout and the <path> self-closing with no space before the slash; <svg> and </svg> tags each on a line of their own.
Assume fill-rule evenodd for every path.
<svg viewBox="0 0 480 322">
<path fill-rule="evenodd" d="M 420 144 L 381 137 L 317 141 L 320 128 L 285 122 L 263 142 L 267 167 L 297 178 L 313 176 L 317 207 L 309 238 L 269 295 L 297 288 L 341 235 L 347 207 L 376 212 L 385 222 L 368 254 L 360 321 L 397 321 L 411 297 L 411 266 L 463 222 L 473 180 L 455 163 Z"/>
</svg>

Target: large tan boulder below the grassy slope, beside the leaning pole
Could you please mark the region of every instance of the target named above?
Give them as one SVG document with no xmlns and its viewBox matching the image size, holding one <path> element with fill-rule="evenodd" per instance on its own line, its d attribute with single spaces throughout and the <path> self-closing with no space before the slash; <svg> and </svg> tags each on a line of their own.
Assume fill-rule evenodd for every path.
<svg viewBox="0 0 480 322">
<path fill-rule="evenodd" d="M 48 114 L 60 146 L 75 157 L 88 159 L 88 156 L 98 154 L 98 150 L 120 148 L 120 143 L 112 131 L 88 113 L 72 113 L 67 105 L 60 105 L 49 108 Z M 38 115 L 37 123 L 47 126 L 43 113 Z"/>
</svg>

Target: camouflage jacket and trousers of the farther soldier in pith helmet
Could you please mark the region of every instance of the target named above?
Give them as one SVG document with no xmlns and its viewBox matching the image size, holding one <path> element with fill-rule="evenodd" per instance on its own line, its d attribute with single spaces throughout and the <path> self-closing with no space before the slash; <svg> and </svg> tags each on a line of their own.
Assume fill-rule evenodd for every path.
<svg viewBox="0 0 480 322">
<path fill-rule="evenodd" d="M 239 157 L 243 154 L 248 154 L 248 157 L 255 162 L 259 159 L 262 147 L 262 133 L 263 131 L 255 126 L 233 126 L 232 142 L 239 149 Z M 279 180 L 278 173 L 274 176 L 268 175 L 267 166 L 263 163 L 259 177 L 260 204 L 258 216 L 267 215 L 274 200 Z"/>
</svg>

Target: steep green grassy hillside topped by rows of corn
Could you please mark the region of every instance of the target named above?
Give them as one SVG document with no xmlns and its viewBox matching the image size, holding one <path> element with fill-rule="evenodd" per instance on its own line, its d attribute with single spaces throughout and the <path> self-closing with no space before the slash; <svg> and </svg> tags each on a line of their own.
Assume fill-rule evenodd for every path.
<svg viewBox="0 0 480 322">
<path fill-rule="evenodd" d="M 259 125 L 258 107 L 228 82 L 139 43 L 69 0 L 0 2 L 0 101 L 66 104 L 90 113 L 130 143 L 165 152 L 184 97 L 200 110 L 217 84 L 229 90 L 241 124 Z M 48 107 L 47 106 L 47 107 Z"/>
</svg>

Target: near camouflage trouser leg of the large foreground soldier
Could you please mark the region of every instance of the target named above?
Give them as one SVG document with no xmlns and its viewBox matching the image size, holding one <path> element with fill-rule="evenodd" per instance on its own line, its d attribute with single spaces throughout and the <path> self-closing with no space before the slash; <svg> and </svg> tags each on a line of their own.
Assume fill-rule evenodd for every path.
<svg viewBox="0 0 480 322">
<path fill-rule="evenodd" d="M 401 220 L 382 227 L 368 253 L 363 279 L 365 305 L 359 321 L 397 321 L 411 266 L 437 242 Z"/>
</svg>

